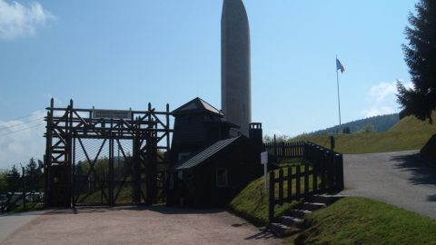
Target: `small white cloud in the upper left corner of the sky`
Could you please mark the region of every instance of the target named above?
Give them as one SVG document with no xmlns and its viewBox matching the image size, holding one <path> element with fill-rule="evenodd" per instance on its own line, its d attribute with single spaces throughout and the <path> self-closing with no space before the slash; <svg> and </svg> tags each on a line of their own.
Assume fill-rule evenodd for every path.
<svg viewBox="0 0 436 245">
<path fill-rule="evenodd" d="M 39 3 L 20 5 L 0 0 L 0 39 L 12 40 L 17 37 L 33 35 L 39 26 L 54 20 L 54 15 Z"/>
</svg>

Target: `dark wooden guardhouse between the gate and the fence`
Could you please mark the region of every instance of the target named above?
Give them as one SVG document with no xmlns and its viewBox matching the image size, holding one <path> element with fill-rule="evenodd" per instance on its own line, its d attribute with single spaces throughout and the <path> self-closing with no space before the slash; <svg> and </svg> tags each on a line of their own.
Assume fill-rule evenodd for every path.
<svg viewBox="0 0 436 245">
<path fill-rule="evenodd" d="M 230 137 L 237 128 L 200 98 L 173 111 L 172 167 L 168 204 L 220 207 L 263 174 L 262 124 L 250 124 L 250 138 Z"/>
</svg>

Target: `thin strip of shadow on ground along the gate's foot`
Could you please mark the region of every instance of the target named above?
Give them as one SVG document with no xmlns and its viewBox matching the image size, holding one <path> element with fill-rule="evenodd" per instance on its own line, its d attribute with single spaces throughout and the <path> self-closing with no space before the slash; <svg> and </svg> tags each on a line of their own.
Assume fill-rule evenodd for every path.
<svg viewBox="0 0 436 245">
<path fill-rule="evenodd" d="M 73 209 L 52 209 L 45 212 L 45 215 L 56 214 L 78 214 L 78 213 L 98 213 L 107 211 L 155 211 L 163 214 L 203 214 L 203 213 L 217 213 L 224 211 L 223 209 L 193 209 L 187 207 L 167 207 L 159 206 L 80 206 Z"/>
</svg>

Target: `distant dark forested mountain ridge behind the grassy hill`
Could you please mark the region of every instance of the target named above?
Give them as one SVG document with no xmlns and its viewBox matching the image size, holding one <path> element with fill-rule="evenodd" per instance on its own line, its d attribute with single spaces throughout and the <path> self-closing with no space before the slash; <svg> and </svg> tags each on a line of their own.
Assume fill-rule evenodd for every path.
<svg viewBox="0 0 436 245">
<path fill-rule="evenodd" d="M 327 129 L 318 130 L 315 132 L 309 132 L 307 133 L 307 135 L 315 136 L 315 135 L 322 135 L 328 133 L 342 132 L 342 130 L 346 127 L 350 128 L 351 132 L 359 132 L 362 130 L 364 126 L 368 124 L 371 124 L 374 127 L 375 132 L 386 132 L 397 122 L 400 122 L 400 115 L 398 113 L 378 115 L 378 116 L 372 116 L 352 122 L 346 122 L 343 123 L 341 126 L 336 125 Z"/>
</svg>

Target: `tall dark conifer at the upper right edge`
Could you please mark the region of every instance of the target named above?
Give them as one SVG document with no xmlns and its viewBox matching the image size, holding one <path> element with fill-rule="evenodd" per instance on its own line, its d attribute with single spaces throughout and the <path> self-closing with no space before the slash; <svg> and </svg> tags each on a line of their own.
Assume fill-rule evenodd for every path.
<svg viewBox="0 0 436 245">
<path fill-rule="evenodd" d="M 416 15 L 409 15 L 411 26 L 405 30 L 409 45 L 402 44 L 413 88 L 398 82 L 397 98 L 401 117 L 414 115 L 432 123 L 431 112 L 436 109 L 436 1 L 421 0 L 415 8 Z"/>
</svg>

